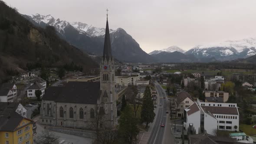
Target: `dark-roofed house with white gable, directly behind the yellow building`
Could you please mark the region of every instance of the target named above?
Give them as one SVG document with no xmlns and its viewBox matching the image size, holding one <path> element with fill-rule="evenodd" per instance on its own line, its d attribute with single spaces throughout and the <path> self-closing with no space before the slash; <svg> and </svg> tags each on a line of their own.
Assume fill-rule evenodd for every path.
<svg viewBox="0 0 256 144">
<path fill-rule="evenodd" d="M 15 102 L 0 102 L 0 111 L 4 111 L 7 113 L 11 113 L 12 111 L 16 111 L 19 115 L 26 118 L 26 108 L 23 107 L 20 103 Z M 1 115 L 1 112 L 0 112 Z"/>
</svg>

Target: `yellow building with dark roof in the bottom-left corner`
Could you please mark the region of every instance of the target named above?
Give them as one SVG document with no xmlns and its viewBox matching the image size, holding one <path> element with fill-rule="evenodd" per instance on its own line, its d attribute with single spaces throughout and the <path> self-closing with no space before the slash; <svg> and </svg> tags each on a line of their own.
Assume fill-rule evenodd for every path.
<svg viewBox="0 0 256 144">
<path fill-rule="evenodd" d="M 0 115 L 0 144 L 33 144 L 36 122 L 16 112 Z"/>
</svg>

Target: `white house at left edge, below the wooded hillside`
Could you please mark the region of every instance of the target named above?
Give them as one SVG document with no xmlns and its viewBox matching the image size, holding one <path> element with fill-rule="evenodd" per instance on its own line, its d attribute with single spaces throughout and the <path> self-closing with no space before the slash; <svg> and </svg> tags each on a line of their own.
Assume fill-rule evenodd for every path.
<svg viewBox="0 0 256 144">
<path fill-rule="evenodd" d="M 17 88 L 15 84 L 3 83 L 0 86 L 0 101 L 13 102 L 17 96 Z"/>
</svg>

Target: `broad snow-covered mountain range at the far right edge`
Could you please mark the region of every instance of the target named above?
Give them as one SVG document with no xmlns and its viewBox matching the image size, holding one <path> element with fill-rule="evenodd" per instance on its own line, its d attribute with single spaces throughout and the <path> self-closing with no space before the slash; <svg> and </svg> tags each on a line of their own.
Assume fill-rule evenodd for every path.
<svg viewBox="0 0 256 144">
<path fill-rule="evenodd" d="M 185 54 L 192 54 L 198 59 L 215 57 L 220 61 L 247 58 L 256 54 L 256 38 L 197 45 Z"/>
</svg>

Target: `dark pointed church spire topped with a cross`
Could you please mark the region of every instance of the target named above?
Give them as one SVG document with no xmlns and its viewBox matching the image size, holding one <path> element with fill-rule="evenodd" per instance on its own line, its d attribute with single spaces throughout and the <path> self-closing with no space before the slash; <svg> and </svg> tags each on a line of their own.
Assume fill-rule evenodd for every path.
<svg viewBox="0 0 256 144">
<path fill-rule="evenodd" d="M 109 35 L 109 28 L 108 28 L 108 9 L 107 9 L 107 24 L 106 24 L 106 32 L 105 32 L 105 42 L 104 42 L 104 50 L 103 50 L 103 59 L 109 58 L 112 59 L 111 53 L 111 43 L 110 43 L 110 35 Z"/>
</svg>

